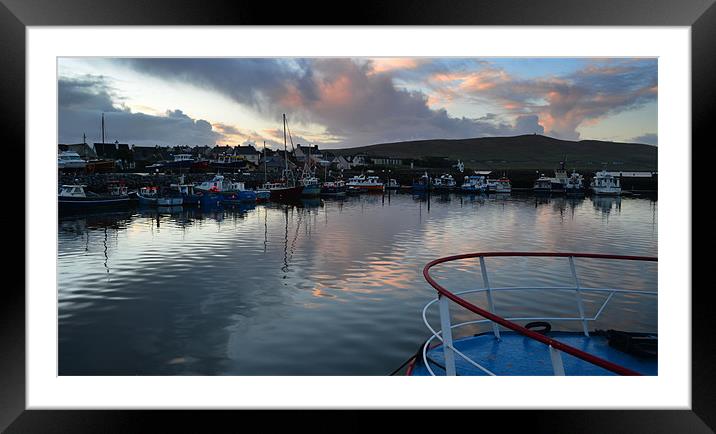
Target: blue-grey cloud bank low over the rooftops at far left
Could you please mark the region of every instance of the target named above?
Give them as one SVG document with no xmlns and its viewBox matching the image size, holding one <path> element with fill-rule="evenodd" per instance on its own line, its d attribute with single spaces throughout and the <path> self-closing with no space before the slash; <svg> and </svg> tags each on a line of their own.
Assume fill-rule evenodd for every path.
<svg viewBox="0 0 716 434">
<path fill-rule="evenodd" d="M 60 78 L 58 82 L 59 141 L 77 143 L 87 134 L 88 142 L 101 141 L 101 114 L 105 113 L 105 140 L 133 144 L 214 144 L 223 136 L 202 119 L 192 119 L 181 110 L 163 116 L 132 113 L 118 104 L 108 80 L 101 76 Z"/>
</svg>

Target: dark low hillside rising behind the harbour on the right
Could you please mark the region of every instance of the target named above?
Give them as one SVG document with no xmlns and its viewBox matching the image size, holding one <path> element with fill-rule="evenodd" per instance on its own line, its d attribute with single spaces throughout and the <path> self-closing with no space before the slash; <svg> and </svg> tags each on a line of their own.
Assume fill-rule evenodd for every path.
<svg viewBox="0 0 716 434">
<path fill-rule="evenodd" d="M 568 168 L 601 169 L 606 165 L 611 170 L 657 170 L 656 146 L 598 140 L 575 142 L 540 135 L 418 140 L 328 151 L 404 159 L 447 157 L 462 160 L 474 169 L 549 170 L 566 156 Z"/>
</svg>

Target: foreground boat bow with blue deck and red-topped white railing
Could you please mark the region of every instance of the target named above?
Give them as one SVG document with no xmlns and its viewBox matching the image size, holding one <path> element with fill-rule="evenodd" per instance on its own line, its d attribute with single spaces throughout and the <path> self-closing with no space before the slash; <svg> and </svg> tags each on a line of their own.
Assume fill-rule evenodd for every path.
<svg viewBox="0 0 716 434">
<path fill-rule="evenodd" d="M 498 287 L 490 284 L 487 274 L 488 261 L 494 260 L 494 264 L 507 267 L 512 261 L 524 262 L 535 257 L 540 258 L 540 261 L 564 262 L 566 269 L 571 272 L 568 276 L 572 283 L 553 286 L 540 283 L 521 287 Z M 431 269 L 439 264 L 475 259 L 480 263 L 483 283 L 480 289 L 452 292 L 430 273 Z M 655 310 L 656 290 L 635 290 L 611 285 L 588 286 L 580 281 L 577 274 L 577 264 L 587 263 L 586 267 L 593 271 L 595 267 L 617 265 L 615 262 L 619 262 L 620 267 L 635 267 L 639 272 L 657 271 L 656 257 L 590 253 L 487 252 L 431 261 L 423 269 L 423 276 L 437 291 L 437 298 L 427 303 L 423 309 L 423 321 L 431 336 L 420 346 L 415 356 L 409 359 L 406 374 L 658 375 L 658 334 L 652 330 L 620 330 L 616 325 L 612 326 L 607 322 L 609 318 L 622 316 L 620 313 L 634 315 L 637 306 Z M 561 268 L 561 265 L 554 265 Z M 510 272 L 514 272 L 514 269 Z M 608 270 L 605 270 L 605 273 L 608 273 Z M 564 282 L 564 279 L 560 281 Z M 574 297 L 571 299 L 574 300 L 574 311 L 554 316 L 533 316 L 526 313 L 525 316 L 505 317 L 497 313 L 499 306 L 495 304 L 495 295 L 505 291 L 513 294 L 539 291 L 549 294 L 550 297 L 556 297 L 560 292 L 567 296 L 573 293 Z M 486 306 L 475 304 L 476 299 L 471 297 L 475 294 L 480 295 L 480 300 L 486 300 Z M 620 296 L 628 297 L 628 305 L 621 307 L 624 305 L 618 302 L 610 304 Z M 596 300 L 596 304 L 587 309 L 587 300 Z M 455 324 L 450 315 L 451 304 L 467 309 L 481 318 Z M 436 307 L 440 318 L 439 327 L 428 320 L 431 308 Z M 538 305 L 534 308 L 536 312 L 542 311 Z M 630 313 L 617 311 L 610 312 L 609 316 L 602 315 L 606 310 L 627 308 Z M 655 312 L 652 313 L 656 318 Z M 592 328 L 598 320 L 598 324 L 604 329 Z M 552 329 L 553 324 L 555 330 Z M 577 327 L 568 327 L 568 324 L 577 324 Z M 488 331 L 475 334 L 475 327 L 487 327 Z M 557 327 L 560 329 L 556 329 Z"/>
</svg>

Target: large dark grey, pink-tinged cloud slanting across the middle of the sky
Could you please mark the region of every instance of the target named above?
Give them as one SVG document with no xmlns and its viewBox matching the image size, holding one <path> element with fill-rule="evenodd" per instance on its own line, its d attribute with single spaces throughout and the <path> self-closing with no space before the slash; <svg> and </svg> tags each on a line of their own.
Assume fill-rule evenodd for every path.
<svg viewBox="0 0 716 434">
<path fill-rule="evenodd" d="M 121 59 L 134 70 L 207 88 L 280 122 L 318 124 L 338 146 L 543 132 L 532 119 L 455 118 L 389 73 L 352 59 Z M 335 145 L 335 144 L 333 144 Z"/>
</svg>

